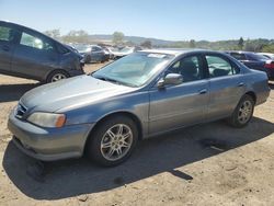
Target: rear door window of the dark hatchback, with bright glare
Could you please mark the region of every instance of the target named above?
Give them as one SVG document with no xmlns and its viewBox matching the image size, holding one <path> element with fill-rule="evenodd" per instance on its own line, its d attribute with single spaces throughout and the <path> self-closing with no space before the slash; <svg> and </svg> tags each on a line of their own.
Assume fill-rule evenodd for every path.
<svg viewBox="0 0 274 206">
<path fill-rule="evenodd" d="M 42 41 L 41 38 L 37 38 L 33 35 L 22 33 L 22 37 L 20 41 L 21 45 L 37 48 L 37 49 L 43 49 L 43 50 L 54 50 L 53 44 L 46 41 Z"/>
</svg>

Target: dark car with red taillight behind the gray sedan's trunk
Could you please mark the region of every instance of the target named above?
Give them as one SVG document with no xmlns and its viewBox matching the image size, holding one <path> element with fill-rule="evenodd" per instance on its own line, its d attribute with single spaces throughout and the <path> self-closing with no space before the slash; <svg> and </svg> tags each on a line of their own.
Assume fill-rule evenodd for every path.
<svg viewBox="0 0 274 206">
<path fill-rule="evenodd" d="M 274 78 L 274 61 L 270 58 L 250 52 L 227 52 L 239 61 L 243 62 L 250 69 L 264 71 L 267 73 L 269 79 Z"/>
</svg>

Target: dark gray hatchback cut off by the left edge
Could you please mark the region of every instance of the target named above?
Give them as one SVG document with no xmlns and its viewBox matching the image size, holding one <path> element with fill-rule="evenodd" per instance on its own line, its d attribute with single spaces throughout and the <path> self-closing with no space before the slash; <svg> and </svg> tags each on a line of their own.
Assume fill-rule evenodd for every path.
<svg viewBox="0 0 274 206">
<path fill-rule="evenodd" d="M 54 82 L 84 73 L 81 58 L 37 31 L 0 21 L 0 73 Z"/>
</svg>

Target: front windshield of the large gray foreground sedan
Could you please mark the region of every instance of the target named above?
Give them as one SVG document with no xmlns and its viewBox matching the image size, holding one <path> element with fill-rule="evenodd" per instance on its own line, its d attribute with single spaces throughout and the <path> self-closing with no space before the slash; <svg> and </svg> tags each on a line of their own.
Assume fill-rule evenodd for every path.
<svg viewBox="0 0 274 206">
<path fill-rule="evenodd" d="M 135 53 L 103 67 L 92 77 L 128 87 L 141 87 L 172 58 L 172 55 L 165 54 Z"/>
</svg>

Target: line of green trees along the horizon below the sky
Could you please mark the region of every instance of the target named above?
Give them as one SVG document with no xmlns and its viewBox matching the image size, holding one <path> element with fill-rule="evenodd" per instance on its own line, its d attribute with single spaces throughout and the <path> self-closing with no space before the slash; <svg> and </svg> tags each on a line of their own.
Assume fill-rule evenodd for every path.
<svg viewBox="0 0 274 206">
<path fill-rule="evenodd" d="M 79 30 L 79 31 L 70 31 L 66 35 L 61 35 L 59 30 L 49 30 L 44 32 L 46 35 L 61 41 L 64 43 L 84 43 L 90 44 L 93 43 L 94 39 L 89 37 L 89 33 Z M 123 45 L 123 46 L 137 46 L 134 42 L 125 41 L 125 35 L 123 32 L 114 32 L 112 35 L 112 43 L 114 45 Z M 228 39 L 228 41 L 217 41 L 217 42 L 208 42 L 208 41 L 179 41 L 179 42 L 169 42 L 164 45 L 162 44 L 152 44 L 151 41 L 145 39 L 142 43 L 139 43 L 138 46 L 142 46 L 146 48 L 151 47 L 172 47 L 172 48 L 205 48 L 205 49 L 214 49 L 214 50 L 248 50 L 248 52 L 264 52 L 264 53 L 274 53 L 274 39 L 243 39 L 240 37 L 239 39 Z"/>
</svg>

